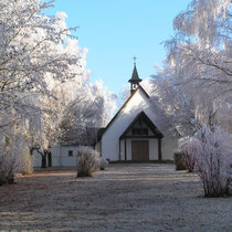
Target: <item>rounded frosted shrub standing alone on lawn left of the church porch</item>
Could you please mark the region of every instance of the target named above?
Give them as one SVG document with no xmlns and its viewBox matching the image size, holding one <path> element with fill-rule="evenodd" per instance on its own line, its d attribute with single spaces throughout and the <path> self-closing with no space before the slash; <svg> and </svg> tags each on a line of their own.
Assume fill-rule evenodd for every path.
<svg viewBox="0 0 232 232">
<path fill-rule="evenodd" d="M 99 152 L 89 147 L 80 147 L 77 177 L 92 177 L 99 167 Z"/>
</svg>

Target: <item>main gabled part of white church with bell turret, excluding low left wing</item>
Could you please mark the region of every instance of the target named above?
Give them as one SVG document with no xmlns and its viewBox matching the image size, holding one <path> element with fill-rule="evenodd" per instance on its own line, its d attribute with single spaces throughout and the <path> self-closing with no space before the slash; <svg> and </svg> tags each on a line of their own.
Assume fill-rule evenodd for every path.
<svg viewBox="0 0 232 232">
<path fill-rule="evenodd" d="M 149 94 L 139 84 L 136 63 L 130 96 L 98 134 L 96 149 L 110 161 L 172 160 L 178 139 L 159 128 L 158 116 Z"/>
</svg>

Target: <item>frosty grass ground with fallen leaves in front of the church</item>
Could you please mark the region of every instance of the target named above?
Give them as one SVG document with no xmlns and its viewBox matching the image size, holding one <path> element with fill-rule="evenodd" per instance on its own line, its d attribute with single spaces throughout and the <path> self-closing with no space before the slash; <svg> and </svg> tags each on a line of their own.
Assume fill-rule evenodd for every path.
<svg viewBox="0 0 232 232">
<path fill-rule="evenodd" d="M 38 170 L 0 187 L 0 230 L 232 231 L 232 199 L 207 199 L 173 165 L 109 165 L 93 178 Z"/>
</svg>

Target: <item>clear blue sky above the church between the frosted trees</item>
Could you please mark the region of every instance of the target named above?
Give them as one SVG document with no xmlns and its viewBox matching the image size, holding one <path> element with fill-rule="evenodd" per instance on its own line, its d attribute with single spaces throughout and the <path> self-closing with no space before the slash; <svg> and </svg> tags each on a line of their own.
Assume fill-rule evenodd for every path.
<svg viewBox="0 0 232 232">
<path fill-rule="evenodd" d="M 172 20 L 190 0 L 56 0 L 46 11 L 67 14 L 81 48 L 87 48 L 91 80 L 102 78 L 118 94 L 133 72 L 137 56 L 140 78 L 155 73 L 166 57 L 164 42 L 173 34 Z"/>
</svg>

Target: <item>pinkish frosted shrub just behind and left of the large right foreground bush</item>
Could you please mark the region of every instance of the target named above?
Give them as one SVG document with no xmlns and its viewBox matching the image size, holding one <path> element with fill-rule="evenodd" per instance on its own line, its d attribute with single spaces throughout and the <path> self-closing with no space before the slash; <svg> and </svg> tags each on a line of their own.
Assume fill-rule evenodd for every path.
<svg viewBox="0 0 232 232">
<path fill-rule="evenodd" d="M 184 154 L 183 162 L 190 172 L 194 170 L 194 157 L 199 152 L 199 149 L 198 140 L 194 137 L 186 137 L 179 140 L 179 150 Z"/>
</svg>

